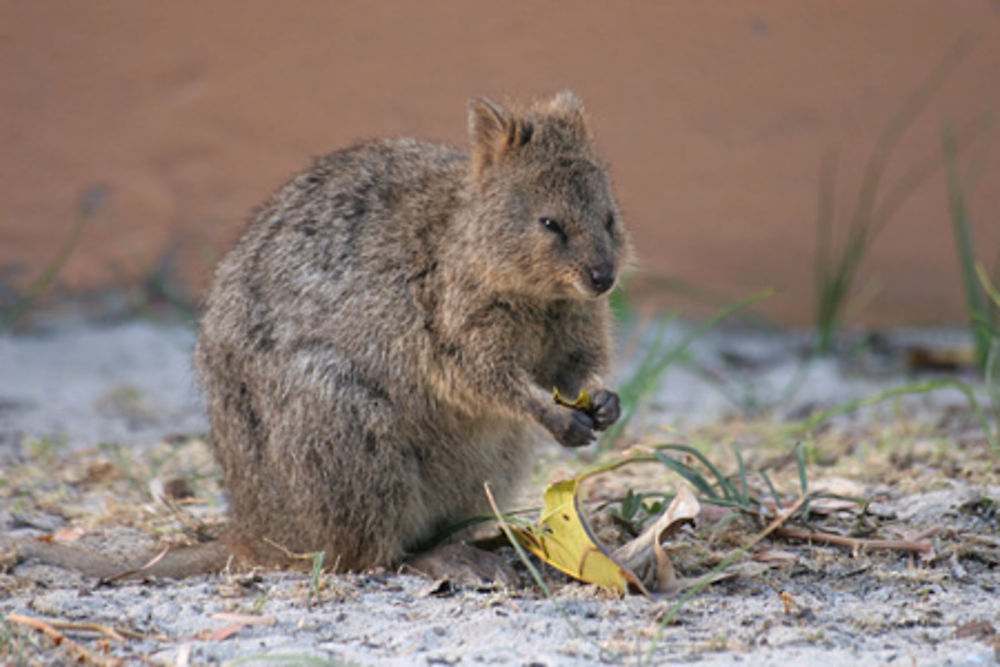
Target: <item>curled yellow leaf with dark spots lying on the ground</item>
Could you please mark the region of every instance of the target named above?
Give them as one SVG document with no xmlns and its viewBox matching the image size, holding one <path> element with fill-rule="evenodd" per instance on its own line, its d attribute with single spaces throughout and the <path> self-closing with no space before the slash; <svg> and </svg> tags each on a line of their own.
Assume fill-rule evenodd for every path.
<svg viewBox="0 0 1000 667">
<path fill-rule="evenodd" d="M 519 528 L 521 544 L 543 561 L 571 577 L 625 593 L 628 583 L 646 593 L 638 578 L 617 562 L 597 541 L 580 511 L 580 482 L 591 473 L 550 484 L 537 526 Z"/>
</svg>

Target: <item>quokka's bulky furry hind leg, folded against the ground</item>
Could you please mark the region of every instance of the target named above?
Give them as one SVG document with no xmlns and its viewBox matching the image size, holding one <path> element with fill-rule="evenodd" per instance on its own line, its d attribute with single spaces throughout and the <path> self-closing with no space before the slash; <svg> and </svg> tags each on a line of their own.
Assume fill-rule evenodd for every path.
<svg viewBox="0 0 1000 667">
<path fill-rule="evenodd" d="M 295 553 L 324 551 L 327 566 L 392 566 L 426 539 L 426 477 L 411 429 L 384 395 L 342 378 L 309 386 L 265 409 L 263 456 L 227 471 L 232 528 L 244 541 Z M 279 546 L 275 546 L 279 545 Z"/>
</svg>

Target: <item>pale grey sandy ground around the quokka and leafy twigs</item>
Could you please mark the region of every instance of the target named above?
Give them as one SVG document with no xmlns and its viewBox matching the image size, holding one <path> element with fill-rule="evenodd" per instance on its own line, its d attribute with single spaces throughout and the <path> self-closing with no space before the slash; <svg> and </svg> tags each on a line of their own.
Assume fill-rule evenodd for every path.
<svg viewBox="0 0 1000 667">
<path fill-rule="evenodd" d="M 668 338 L 684 332 L 675 327 Z M 620 375 L 648 339 L 622 343 Z M 0 338 L 3 534 L 59 532 L 98 548 L 146 549 L 153 536 L 177 533 L 152 494 L 178 474 L 205 500 L 189 511 L 218 520 L 224 500 L 201 440 L 193 340 L 190 329 L 146 321 Z M 900 332 L 889 348 L 961 340 Z M 748 465 L 780 459 L 784 441 L 761 435 L 771 426 L 906 379 L 897 356 L 871 351 L 877 342 L 803 372 L 804 342 L 773 332 L 703 336 L 636 418 L 633 438 L 659 437 L 669 426 L 716 460 L 725 461 L 731 443 Z M 742 559 L 730 578 L 687 601 L 655 641 L 676 594 L 614 599 L 551 571 L 552 599 L 527 576 L 517 590 L 454 591 L 391 572 L 323 575 L 310 596 L 306 573 L 97 586 L 7 558 L 0 661 L 61 664 L 85 651 L 97 662 L 178 665 L 574 665 L 639 663 L 652 650 L 655 664 L 993 664 L 1000 467 L 962 395 L 938 391 L 851 413 L 811 442 L 811 484 L 872 501 L 863 517 L 819 517 L 813 527 L 868 522 L 884 537 L 930 540 L 931 552 L 852 553 L 769 539 L 756 560 Z M 581 465 L 543 449 L 528 486 L 537 497 L 544 482 Z M 781 490 L 794 490 L 794 465 L 771 469 Z M 676 475 L 662 480 L 678 484 Z M 726 538 L 713 530 L 699 527 L 674 547 L 682 574 L 703 574 L 726 553 Z M 121 637 L 64 628 L 69 642 L 54 646 L 18 620 L 24 616 L 114 627 Z"/>
</svg>

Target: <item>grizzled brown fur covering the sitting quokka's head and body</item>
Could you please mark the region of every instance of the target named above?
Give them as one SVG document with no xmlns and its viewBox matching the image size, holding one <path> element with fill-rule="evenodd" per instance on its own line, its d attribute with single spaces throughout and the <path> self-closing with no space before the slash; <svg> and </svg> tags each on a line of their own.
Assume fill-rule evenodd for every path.
<svg viewBox="0 0 1000 667">
<path fill-rule="evenodd" d="M 317 160 L 220 264 L 195 365 L 247 560 L 395 564 L 486 511 L 484 481 L 508 495 L 539 425 L 579 446 L 617 418 L 598 374 L 628 241 L 580 101 L 474 100 L 469 133 L 471 158 L 395 140 Z"/>
</svg>

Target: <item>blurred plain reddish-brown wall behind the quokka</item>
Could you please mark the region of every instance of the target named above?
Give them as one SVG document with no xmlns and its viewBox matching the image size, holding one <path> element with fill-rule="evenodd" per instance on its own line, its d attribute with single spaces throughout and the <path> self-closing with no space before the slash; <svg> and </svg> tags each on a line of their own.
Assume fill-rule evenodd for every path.
<svg viewBox="0 0 1000 667">
<path fill-rule="evenodd" d="M 1000 111 L 995 0 L 5 0 L 0 280 L 23 289 L 103 185 L 62 284 L 134 281 L 169 254 L 201 288 L 248 210 L 310 156 L 381 135 L 463 144 L 469 96 L 568 87 L 644 270 L 724 296 L 774 286 L 769 312 L 805 322 L 824 152 L 837 150 L 846 215 L 878 132 L 970 33 L 976 49 L 905 135 L 890 184 L 940 152 L 944 121 Z M 992 262 L 989 158 L 970 205 Z M 961 320 L 940 175 L 889 223 L 861 282 L 874 297 L 855 321 Z"/>
</svg>

